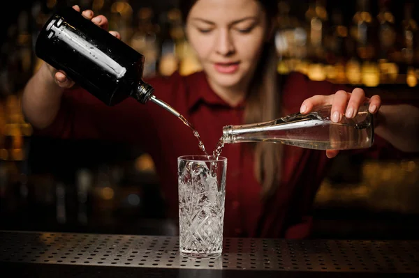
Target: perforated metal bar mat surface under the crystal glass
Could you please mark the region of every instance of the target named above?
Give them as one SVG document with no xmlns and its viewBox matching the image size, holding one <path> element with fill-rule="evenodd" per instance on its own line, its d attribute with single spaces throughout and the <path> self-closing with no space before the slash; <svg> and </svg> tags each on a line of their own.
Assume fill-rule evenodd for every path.
<svg viewBox="0 0 419 278">
<path fill-rule="evenodd" d="M 179 255 L 177 237 L 0 231 L 0 261 L 134 268 L 419 273 L 419 241 L 225 238 L 219 258 Z"/>
</svg>

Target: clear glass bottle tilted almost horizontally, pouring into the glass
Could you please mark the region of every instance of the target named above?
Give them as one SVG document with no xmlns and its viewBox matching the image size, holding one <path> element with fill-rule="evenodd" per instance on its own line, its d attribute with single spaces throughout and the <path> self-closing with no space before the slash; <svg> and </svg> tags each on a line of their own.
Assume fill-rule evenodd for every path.
<svg viewBox="0 0 419 278">
<path fill-rule="evenodd" d="M 316 150 L 369 148 L 374 142 L 373 116 L 368 104 L 358 109 L 354 118 L 342 116 L 339 123 L 330 120 L 331 105 L 309 114 L 295 113 L 265 123 L 227 125 L 223 142 L 281 143 Z"/>
</svg>

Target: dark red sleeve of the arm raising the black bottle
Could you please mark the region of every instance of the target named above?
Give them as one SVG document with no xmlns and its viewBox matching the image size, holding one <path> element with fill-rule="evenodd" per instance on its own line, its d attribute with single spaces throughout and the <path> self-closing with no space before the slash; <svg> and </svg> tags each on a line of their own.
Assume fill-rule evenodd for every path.
<svg viewBox="0 0 419 278">
<path fill-rule="evenodd" d="M 154 77 L 146 80 L 155 91 L 170 93 L 172 83 L 179 77 Z M 127 98 L 108 107 L 83 88 L 66 90 L 54 122 L 36 136 L 61 139 L 101 139 L 128 144 L 152 146 L 157 132 L 154 128 L 153 107 Z"/>
</svg>

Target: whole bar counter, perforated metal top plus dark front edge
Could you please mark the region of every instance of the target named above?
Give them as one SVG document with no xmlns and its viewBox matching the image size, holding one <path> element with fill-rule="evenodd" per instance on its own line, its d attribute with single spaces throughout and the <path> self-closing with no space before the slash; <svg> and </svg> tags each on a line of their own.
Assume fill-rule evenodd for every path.
<svg viewBox="0 0 419 278">
<path fill-rule="evenodd" d="M 1 277 L 419 277 L 419 240 L 225 238 L 191 259 L 172 236 L 0 231 L 0 250 Z"/>
</svg>

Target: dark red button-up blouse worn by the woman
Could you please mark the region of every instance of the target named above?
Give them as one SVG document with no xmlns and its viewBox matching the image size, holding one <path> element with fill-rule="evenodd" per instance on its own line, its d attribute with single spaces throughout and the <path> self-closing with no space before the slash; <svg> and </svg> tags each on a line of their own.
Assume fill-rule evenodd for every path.
<svg viewBox="0 0 419 278">
<path fill-rule="evenodd" d="M 187 77 L 147 80 L 157 98 L 167 102 L 198 130 L 212 152 L 225 125 L 242 123 L 244 107 L 231 107 L 207 83 L 203 72 Z M 291 73 L 281 98 L 285 114 L 300 110 L 312 95 L 329 95 L 341 86 L 314 82 Z M 81 88 L 68 90 L 54 123 L 38 135 L 64 139 L 109 139 L 122 144 L 140 144 L 152 155 L 166 199 L 168 216 L 178 216 L 177 157 L 202 154 L 191 130 L 168 111 L 152 102 L 141 105 L 133 99 L 108 107 Z M 370 157 L 397 151 L 379 137 L 372 148 L 362 150 Z M 325 151 L 284 147 L 284 169 L 280 190 L 265 203 L 259 199 L 260 184 L 253 176 L 253 153 L 244 144 L 226 144 L 221 155 L 228 158 L 224 236 L 264 238 L 307 238 L 311 230 L 311 207 L 325 171 L 332 160 Z"/>
</svg>

